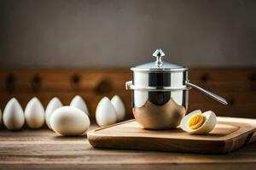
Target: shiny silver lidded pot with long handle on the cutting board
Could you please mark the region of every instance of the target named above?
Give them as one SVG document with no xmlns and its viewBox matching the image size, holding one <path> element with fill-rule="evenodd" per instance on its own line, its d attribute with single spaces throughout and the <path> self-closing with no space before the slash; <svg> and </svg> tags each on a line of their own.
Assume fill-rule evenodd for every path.
<svg viewBox="0 0 256 170">
<path fill-rule="evenodd" d="M 161 49 L 154 54 L 156 61 L 131 68 L 133 80 L 125 83 L 132 90 L 132 111 L 136 121 L 148 129 L 177 127 L 186 114 L 189 89 L 196 88 L 212 99 L 227 105 L 227 101 L 189 82 L 188 68 L 164 63 Z"/>
</svg>

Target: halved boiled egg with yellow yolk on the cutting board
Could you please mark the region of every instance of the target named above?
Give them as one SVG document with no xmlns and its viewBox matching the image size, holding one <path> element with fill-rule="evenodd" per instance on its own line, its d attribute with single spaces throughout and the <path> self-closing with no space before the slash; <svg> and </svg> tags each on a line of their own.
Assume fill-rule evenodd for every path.
<svg viewBox="0 0 256 170">
<path fill-rule="evenodd" d="M 201 110 L 196 110 L 184 116 L 180 125 L 188 133 L 206 134 L 212 131 L 216 123 L 217 118 L 213 111 L 202 113 Z"/>
</svg>

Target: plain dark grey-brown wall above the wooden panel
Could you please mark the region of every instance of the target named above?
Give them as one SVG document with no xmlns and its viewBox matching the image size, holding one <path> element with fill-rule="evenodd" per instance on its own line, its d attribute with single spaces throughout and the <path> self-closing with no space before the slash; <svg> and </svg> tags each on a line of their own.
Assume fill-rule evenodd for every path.
<svg viewBox="0 0 256 170">
<path fill-rule="evenodd" d="M 0 67 L 256 65 L 253 0 L 1 0 Z"/>
</svg>

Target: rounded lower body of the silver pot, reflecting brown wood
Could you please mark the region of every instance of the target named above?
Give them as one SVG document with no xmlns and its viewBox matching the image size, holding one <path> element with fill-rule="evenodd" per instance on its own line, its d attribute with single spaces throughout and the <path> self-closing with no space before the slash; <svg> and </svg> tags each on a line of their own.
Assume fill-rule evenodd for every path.
<svg viewBox="0 0 256 170">
<path fill-rule="evenodd" d="M 177 127 L 186 114 L 188 92 L 145 92 L 148 99 L 141 107 L 133 104 L 136 121 L 148 129 L 171 129 Z M 133 96 L 136 100 L 136 95 Z"/>
</svg>

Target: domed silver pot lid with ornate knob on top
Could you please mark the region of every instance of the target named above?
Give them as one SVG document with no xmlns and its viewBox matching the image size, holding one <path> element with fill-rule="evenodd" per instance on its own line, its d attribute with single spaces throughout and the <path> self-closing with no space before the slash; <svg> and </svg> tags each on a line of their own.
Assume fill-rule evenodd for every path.
<svg viewBox="0 0 256 170">
<path fill-rule="evenodd" d="M 164 62 L 162 57 L 166 54 L 162 49 L 156 49 L 153 56 L 156 58 L 154 62 L 146 63 L 143 65 L 137 65 L 131 68 L 131 71 L 185 71 L 188 70 L 183 65 L 176 65 L 168 62 Z"/>
</svg>

